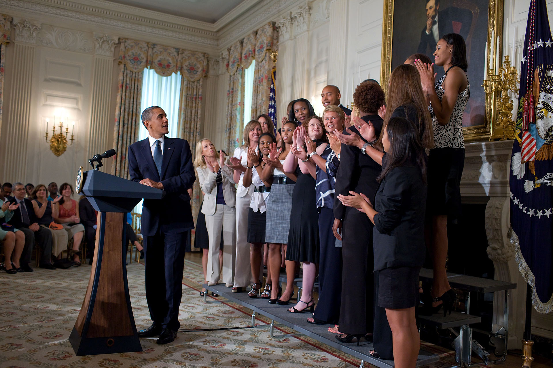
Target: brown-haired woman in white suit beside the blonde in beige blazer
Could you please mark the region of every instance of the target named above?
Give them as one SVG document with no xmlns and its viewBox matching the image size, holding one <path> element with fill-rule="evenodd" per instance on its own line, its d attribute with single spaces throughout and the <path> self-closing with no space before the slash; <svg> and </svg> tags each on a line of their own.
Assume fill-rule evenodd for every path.
<svg viewBox="0 0 553 368">
<path fill-rule="evenodd" d="M 246 187 L 242 185 L 242 180 L 248 162 L 248 149 L 257 150 L 260 135 L 261 125 L 259 121 L 252 120 L 248 122 L 244 127 L 244 145 L 234 150 L 229 165 L 234 169 L 234 182 L 238 183 L 236 193 L 236 266 L 234 268 L 233 292 L 244 291 L 250 282 L 258 282 L 258 280 L 252 280 L 249 263 L 248 212 L 253 194 L 253 184 Z"/>
</svg>

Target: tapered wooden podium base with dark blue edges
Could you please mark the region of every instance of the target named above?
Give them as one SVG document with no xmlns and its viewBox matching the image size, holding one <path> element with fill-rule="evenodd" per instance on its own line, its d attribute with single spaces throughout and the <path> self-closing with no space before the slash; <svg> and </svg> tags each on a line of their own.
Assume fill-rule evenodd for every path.
<svg viewBox="0 0 553 368">
<path fill-rule="evenodd" d="M 77 356 L 142 351 L 127 284 L 125 215 L 98 212 L 92 271 L 69 336 Z"/>
</svg>

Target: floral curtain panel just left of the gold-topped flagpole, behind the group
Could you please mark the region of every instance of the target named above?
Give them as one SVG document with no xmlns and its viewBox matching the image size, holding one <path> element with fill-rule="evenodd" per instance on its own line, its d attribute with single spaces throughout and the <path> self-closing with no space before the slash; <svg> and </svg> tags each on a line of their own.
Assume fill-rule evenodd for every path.
<svg viewBox="0 0 553 368">
<path fill-rule="evenodd" d="M 274 22 L 257 30 L 255 40 L 255 70 L 253 77 L 252 119 L 267 114 L 269 109 L 269 88 L 273 61 L 270 52 L 275 50 L 277 39 Z"/>
</svg>

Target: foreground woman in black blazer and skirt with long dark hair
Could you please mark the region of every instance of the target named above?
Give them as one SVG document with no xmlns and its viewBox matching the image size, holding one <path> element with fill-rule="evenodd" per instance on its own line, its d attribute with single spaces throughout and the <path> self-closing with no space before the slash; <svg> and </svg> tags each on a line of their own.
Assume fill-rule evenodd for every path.
<svg viewBox="0 0 553 368">
<path fill-rule="evenodd" d="M 365 212 L 374 223 L 374 270 L 378 306 L 392 328 L 394 365 L 415 366 L 420 348 L 415 322 L 419 271 L 424 262 L 426 158 L 419 132 L 408 119 L 390 119 L 384 127 L 383 159 L 374 208 L 366 195 L 340 195 L 345 206 Z M 373 356 L 377 356 L 374 351 Z"/>
</svg>

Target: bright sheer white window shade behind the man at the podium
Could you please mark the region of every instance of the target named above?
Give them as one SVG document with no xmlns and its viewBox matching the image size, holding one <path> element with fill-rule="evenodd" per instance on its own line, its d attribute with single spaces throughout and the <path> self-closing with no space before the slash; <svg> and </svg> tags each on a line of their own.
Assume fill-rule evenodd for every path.
<svg viewBox="0 0 553 368">
<path fill-rule="evenodd" d="M 140 101 L 140 113 L 150 106 L 159 106 L 165 110 L 169 120 L 168 137 L 177 137 L 178 116 L 180 101 L 180 72 L 173 73 L 169 77 L 160 76 L 153 69 L 144 69 L 142 82 L 142 100 Z M 148 137 L 148 130 L 144 124 L 140 124 L 138 131 L 138 140 L 141 141 Z M 142 201 L 134 207 L 133 212 L 142 213 Z"/>
</svg>

